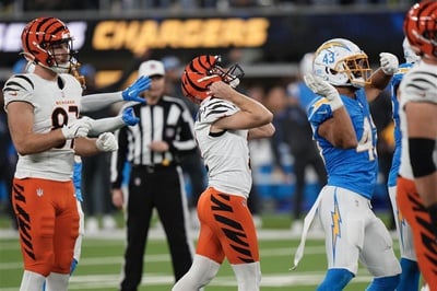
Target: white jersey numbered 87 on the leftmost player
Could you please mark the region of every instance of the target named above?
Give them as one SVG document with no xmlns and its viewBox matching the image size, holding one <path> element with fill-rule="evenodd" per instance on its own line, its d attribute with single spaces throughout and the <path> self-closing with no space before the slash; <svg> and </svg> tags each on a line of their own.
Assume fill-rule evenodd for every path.
<svg viewBox="0 0 437 291">
<path fill-rule="evenodd" d="M 47 81 L 34 73 L 12 75 L 3 88 L 4 109 L 12 102 L 27 102 L 34 107 L 34 132 L 45 133 L 75 120 L 82 88 L 70 74 Z M 15 177 L 54 181 L 71 179 L 74 163 L 73 141 L 48 151 L 19 155 Z"/>
</svg>

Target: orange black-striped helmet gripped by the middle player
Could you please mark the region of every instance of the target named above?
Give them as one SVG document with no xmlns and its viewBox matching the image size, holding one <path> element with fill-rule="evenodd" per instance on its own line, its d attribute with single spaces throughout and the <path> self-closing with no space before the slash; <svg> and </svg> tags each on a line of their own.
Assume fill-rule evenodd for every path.
<svg viewBox="0 0 437 291">
<path fill-rule="evenodd" d="M 210 97 L 209 86 L 213 82 L 223 81 L 236 88 L 244 71 L 238 65 L 227 69 L 221 67 L 220 56 L 202 55 L 193 58 L 186 67 L 181 77 L 184 95 L 191 102 L 200 104 Z"/>
</svg>

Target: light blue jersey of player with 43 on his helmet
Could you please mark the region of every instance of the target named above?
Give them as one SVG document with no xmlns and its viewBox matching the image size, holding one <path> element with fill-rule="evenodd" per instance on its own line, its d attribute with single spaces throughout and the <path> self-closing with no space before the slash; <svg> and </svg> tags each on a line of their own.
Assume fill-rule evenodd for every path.
<svg viewBox="0 0 437 291">
<path fill-rule="evenodd" d="M 332 117 L 327 98 L 317 96 L 308 108 L 308 120 L 324 160 L 328 185 L 343 187 L 371 199 L 378 175 L 377 130 L 364 89 L 356 91 L 355 95 L 356 98 L 340 95 L 356 132 L 358 146 L 355 149 L 334 148 L 317 133 L 319 126 Z"/>
</svg>

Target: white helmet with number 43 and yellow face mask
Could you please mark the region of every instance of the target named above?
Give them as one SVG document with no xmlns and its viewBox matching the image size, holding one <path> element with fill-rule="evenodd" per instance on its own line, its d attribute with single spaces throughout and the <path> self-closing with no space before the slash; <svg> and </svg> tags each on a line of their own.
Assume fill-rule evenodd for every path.
<svg viewBox="0 0 437 291">
<path fill-rule="evenodd" d="M 315 54 L 312 69 L 316 75 L 336 86 L 362 88 L 370 83 L 367 55 L 344 38 L 324 42 Z"/>
</svg>

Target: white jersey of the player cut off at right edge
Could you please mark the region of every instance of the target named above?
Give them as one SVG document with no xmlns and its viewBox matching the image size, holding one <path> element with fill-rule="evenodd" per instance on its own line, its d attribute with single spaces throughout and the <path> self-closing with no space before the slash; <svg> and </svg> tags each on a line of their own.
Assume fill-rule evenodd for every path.
<svg viewBox="0 0 437 291">
<path fill-rule="evenodd" d="M 406 117 L 404 107 L 409 102 L 426 102 L 437 104 L 437 73 L 436 66 L 416 62 L 402 79 L 400 84 L 400 106 L 399 117 L 401 119 L 402 131 L 402 152 L 401 167 L 399 174 L 402 177 L 413 179 L 413 171 L 410 163 L 409 139 L 406 136 Z M 434 160 L 436 161 L 437 151 L 434 149 Z"/>
</svg>

